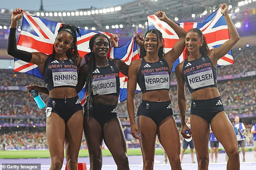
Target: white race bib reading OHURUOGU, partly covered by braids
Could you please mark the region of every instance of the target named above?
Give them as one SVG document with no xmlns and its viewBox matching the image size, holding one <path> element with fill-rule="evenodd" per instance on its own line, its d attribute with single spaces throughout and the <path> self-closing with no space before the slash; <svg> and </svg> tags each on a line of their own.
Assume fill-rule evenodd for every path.
<svg viewBox="0 0 256 170">
<path fill-rule="evenodd" d="M 105 95 L 116 93 L 116 79 L 115 76 L 97 77 L 92 79 L 93 95 Z"/>
</svg>

